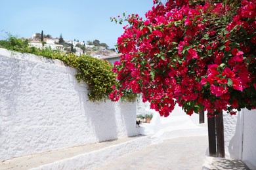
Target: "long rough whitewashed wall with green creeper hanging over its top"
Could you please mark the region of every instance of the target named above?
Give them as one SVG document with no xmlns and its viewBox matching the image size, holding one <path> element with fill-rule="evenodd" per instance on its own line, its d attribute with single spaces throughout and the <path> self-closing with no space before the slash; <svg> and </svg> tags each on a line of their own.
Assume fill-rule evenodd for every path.
<svg viewBox="0 0 256 170">
<path fill-rule="evenodd" d="M 0 161 L 137 135 L 136 103 L 92 103 L 75 69 L 0 48 Z"/>
</svg>

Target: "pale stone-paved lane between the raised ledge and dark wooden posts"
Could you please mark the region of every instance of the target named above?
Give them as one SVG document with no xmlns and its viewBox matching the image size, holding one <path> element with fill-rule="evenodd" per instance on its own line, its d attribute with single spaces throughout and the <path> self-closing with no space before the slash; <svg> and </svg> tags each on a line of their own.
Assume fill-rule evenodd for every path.
<svg viewBox="0 0 256 170">
<path fill-rule="evenodd" d="M 100 169 L 202 169 L 207 136 L 165 139 L 98 167 Z"/>
</svg>

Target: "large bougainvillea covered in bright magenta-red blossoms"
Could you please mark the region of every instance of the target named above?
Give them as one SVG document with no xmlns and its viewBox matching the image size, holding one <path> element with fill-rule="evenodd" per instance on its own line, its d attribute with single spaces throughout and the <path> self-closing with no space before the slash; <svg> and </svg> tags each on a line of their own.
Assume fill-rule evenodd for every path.
<svg viewBox="0 0 256 170">
<path fill-rule="evenodd" d="M 110 98 L 142 93 L 161 116 L 176 103 L 190 115 L 255 109 L 255 15 L 255 0 L 154 0 L 146 18 L 125 18 Z"/>
</svg>

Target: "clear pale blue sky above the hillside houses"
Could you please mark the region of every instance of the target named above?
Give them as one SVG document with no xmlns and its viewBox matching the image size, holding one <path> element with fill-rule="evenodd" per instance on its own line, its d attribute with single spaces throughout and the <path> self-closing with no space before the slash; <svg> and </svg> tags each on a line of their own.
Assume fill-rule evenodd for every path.
<svg viewBox="0 0 256 170">
<path fill-rule="evenodd" d="M 18 37 L 33 33 L 50 34 L 65 40 L 93 41 L 98 39 L 114 48 L 123 25 L 110 22 L 110 17 L 139 14 L 150 10 L 153 0 L 1 0 L 0 39 L 5 32 Z"/>
</svg>

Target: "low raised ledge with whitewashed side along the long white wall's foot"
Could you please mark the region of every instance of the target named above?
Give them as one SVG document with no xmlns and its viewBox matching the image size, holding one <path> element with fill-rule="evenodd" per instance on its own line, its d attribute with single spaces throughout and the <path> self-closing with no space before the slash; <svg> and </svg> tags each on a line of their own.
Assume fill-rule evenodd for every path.
<svg viewBox="0 0 256 170">
<path fill-rule="evenodd" d="M 146 135 L 125 137 L 12 158 L 1 162 L 0 169 L 94 169 L 108 161 L 144 148 L 150 143 L 150 136 Z"/>
</svg>

